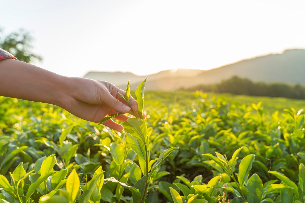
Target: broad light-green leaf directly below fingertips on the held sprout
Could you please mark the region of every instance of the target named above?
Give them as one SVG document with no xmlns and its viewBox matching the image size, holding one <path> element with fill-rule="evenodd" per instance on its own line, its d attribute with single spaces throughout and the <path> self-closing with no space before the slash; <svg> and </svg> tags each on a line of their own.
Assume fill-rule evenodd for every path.
<svg viewBox="0 0 305 203">
<path fill-rule="evenodd" d="M 130 118 L 123 123 L 123 126 L 127 132 L 130 147 L 138 157 L 149 161 L 146 160 L 146 154 L 148 155 L 148 137 L 145 122 L 138 118 Z"/>
</svg>

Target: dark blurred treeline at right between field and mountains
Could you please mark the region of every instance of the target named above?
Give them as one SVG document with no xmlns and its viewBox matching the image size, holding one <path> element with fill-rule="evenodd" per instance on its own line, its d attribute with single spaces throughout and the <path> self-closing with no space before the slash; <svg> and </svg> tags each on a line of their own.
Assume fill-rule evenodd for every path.
<svg viewBox="0 0 305 203">
<path fill-rule="evenodd" d="M 237 76 L 231 77 L 228 80 L 222 80 L 221 83 L 218 84 L 202 84 L 188 88 L 188 90 L 305 99 L 305 87 L 299 84 L 267 84 L 263 82 L 252 82 L 251 80 L 239 78 Z"/>
</svg>

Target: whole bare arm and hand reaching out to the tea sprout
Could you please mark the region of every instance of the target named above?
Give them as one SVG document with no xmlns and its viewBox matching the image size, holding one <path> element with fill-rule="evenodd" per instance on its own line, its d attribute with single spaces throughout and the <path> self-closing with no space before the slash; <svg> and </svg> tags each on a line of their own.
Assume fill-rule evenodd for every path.
<svg viewBox="0 0 305 203">
<path fill-rule="evenodd" d="M 15 59 L 0 61 L 0 73 L 1 96 L 54 104 L 95 123 L 109 114 L 131 110 L 117 94 L 118 91 L 125 95 L 125 91 L 109 82 L 64 77 Z M 138 104 L 131 96 L 129 103 L 132 110 L 137 112 Z M 128 118 L 125 114 L 115 117 L 119 121 Z M 110 119 L 102 124 L 113 130 L 123 130 L 122 125 Z"/>
</svg>

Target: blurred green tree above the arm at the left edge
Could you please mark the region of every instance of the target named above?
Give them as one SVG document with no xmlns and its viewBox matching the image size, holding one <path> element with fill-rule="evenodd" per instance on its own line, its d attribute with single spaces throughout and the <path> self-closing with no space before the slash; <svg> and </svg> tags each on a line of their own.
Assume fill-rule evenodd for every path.
<svg viewBox="0 0 305 203">
<path fill-rule="evenodd" d="M 0 48 L 10 52 L 20 61 L 29 63 L 34 60 L 42 60 L 41 56 L 32 53 L 32 41 L 33 37 L 26 30 L 20 29 L 4 36 L 3 30 L 0 28 Z"/>
</svg>

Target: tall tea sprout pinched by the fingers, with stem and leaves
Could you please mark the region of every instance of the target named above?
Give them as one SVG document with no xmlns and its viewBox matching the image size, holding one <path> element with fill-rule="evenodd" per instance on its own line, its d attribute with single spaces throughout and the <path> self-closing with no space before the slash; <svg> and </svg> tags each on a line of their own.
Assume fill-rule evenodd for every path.
<svg viewBox="0 0 305 203">
<path fill-rule="evenodd" d="M 127 121 L 123 123 L 124 130 L 127 134 L 127 142 L 129 143 L 132 150 L 136 153 L 139 160 L 139 165 L 141 170 L 143 171 L 144 176 L 140 178 L 134 185 L 134 190 L 132 191 L 132 200 L 134 203 L 143 203 L 148 194 L 148 187 L 150 183 L 150 178 L 153 173 L 156 171 L 157 167 L 160 166 L 162 161 L 175 149 L 178 147 L 171 147 L 167 150 L 164 150 L 160 153 L 159 158 L 152 160 L 154 164 L 152 165 L 149 173 L 149 139 L 147 135 L 147 127 L 145 121 L 143 120 L 143 106 L 144 106 L 144 88 L 145 88 L 146 79 L 138 86 L 135 91 L 135 95 L 137 97 L 138 103 L 138 116 L 135 112 L 131 113 L 136 118 L 129 118 Z M 129 104 L 129 96 L 130 96 L 130 87 L 129 81 L 126 88 L 125 97 L 118 93 L 123 101 L 131 108 Z M 104 118 L 100 123 L 103 123 L 107 119 L 113 118 L 115 116 L 121 115 L 123 113 L 115 113 Z M 99 124 L 100 124 L 99 123 Z M 114 178 L 107 179 L 108 181 L 115 182 Z"/>
</svg>

